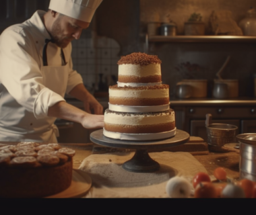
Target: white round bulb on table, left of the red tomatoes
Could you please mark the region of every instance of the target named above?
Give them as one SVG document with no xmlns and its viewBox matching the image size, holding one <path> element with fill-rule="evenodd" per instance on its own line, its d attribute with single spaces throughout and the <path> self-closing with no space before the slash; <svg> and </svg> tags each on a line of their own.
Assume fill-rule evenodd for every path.
<svg viewBox="0 0 256 215">
<path fill-rule="evenodd" d="M 191 184 L 184 177 L 172 177 L 166 183 L 166 193 L 170 198 L 189 198 Z"/>
</svg>

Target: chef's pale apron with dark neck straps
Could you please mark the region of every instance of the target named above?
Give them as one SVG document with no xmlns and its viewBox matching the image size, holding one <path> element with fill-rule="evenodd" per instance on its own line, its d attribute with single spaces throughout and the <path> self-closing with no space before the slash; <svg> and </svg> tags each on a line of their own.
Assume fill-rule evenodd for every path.
<svg viewBox="0 0 256 215">
<path fill-rule="evenodd" d="M 46 49 L 49 42 L 51 42 L 51 40 L 46 40 L 46 44 L 44 45 L 42 53 L 43 66 L 40 68 L 40 71 L 42 73 L 43 85 L 64 97 L 65 91 L 67 89 L 69 67 L 65 62 L 65 56 L 62 49 L 61 55 L 63 66 L 48 65 Z M 56 118 L 47 116 L 46 118 L 37 120 L 33 113 L 27 111 L 25 112 L 26 114 L 24 115 L 24 108 L 18 108 L 16 110 L 18 121 L 15 130 L 7 130 L 5 128 L 1 128 L 1 140 L 11 142 L 33 141 L 57 143 L 59 130 L 54 124 Z"/>
</svg>

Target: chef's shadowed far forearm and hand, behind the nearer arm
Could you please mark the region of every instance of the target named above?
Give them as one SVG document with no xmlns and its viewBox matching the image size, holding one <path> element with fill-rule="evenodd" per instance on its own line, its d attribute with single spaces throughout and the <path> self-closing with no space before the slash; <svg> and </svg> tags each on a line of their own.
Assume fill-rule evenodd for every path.
<svg viewBox="0 0 256 215">
<path fill-rule="evenodd" d="M 69 95 L 72 95 L 76 99 L 84 102 L 84 110 L 91 114 L 91 110 L 94 111 L 94 114 L 103 114 L 102 105 L 95 99 L 95 97 L 88 92 L 84 84 L 79 83 L 71 91 Z"/>
</svg>

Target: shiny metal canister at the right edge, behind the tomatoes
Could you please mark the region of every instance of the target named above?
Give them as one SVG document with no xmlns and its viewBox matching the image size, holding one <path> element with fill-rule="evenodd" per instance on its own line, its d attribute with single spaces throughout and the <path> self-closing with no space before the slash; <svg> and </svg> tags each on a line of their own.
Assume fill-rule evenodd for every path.
<svg viewBox="0 0 256 215">
<path fill-rule="evenodd" d="M 256 134 L 238 134 L 236 138 L 240 142 L 240 179 L 256 181 Z"/>
</svg>

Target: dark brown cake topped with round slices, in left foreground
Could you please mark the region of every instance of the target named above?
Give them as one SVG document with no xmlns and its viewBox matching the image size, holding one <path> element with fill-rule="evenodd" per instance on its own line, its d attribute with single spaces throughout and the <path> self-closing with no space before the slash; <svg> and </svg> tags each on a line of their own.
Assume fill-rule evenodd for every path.
<svg viewBox="0 0 256 215">
<path fill-rule="evenodd" d="M 67 189 L 74 155 L 59 144 L 0 144 L 0 198 L 42 198 Z"/>
</svg>

